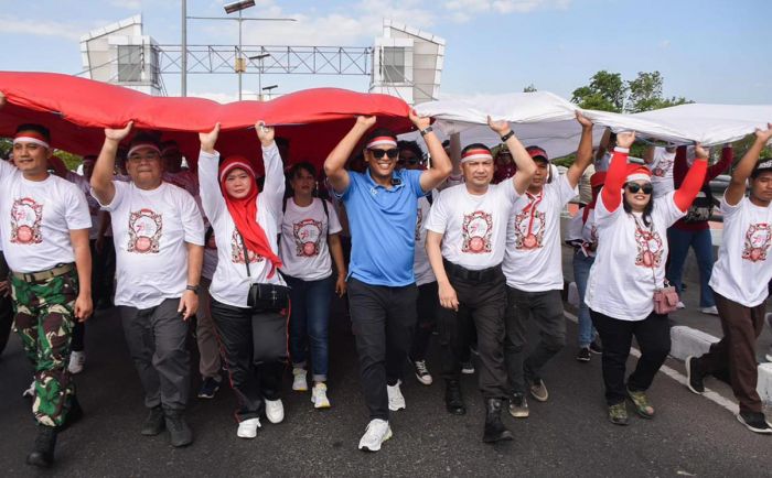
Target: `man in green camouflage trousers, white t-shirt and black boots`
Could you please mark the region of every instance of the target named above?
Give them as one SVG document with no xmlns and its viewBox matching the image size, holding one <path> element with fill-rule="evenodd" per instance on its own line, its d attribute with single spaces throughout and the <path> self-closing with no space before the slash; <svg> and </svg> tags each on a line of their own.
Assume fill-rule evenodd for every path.
<svg viewBox="0 0 772 478">
<path fill-rule="evenodd" d="M 4 102 L 0 94 L 0 108 Z M 82 414 L 67 360 L 75 319 L 92 313 L 88 206 L 77 186 L 49 174 L 50 143 L 46 128 L 22 124 L 13 139 L 15 167 L 0 161 L 0 237 L 15 330 L 35 371 L 39 427 L 26 463 L 42 467 L 53 463 L 57 433 Z"/>
</svg>

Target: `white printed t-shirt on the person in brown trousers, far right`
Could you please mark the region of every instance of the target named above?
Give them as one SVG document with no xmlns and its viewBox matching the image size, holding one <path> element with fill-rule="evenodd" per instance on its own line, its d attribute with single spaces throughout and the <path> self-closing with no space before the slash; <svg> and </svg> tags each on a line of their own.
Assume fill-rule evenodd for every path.
<svg viewBox="0 0 772 478">
<path fill-rule="evenodd" d="M 747 307 L 766 300 L 772 280 L 772 205 L 757 206 L 743 197 L 736 206 L 721 199 L 723 239 L 714 264 L 710 286 Z"/>
</svg>

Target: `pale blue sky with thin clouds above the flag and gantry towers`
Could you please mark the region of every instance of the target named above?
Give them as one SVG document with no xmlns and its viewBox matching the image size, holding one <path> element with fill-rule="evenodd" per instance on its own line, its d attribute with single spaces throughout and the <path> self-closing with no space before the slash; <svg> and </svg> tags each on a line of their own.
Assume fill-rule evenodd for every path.
<svg viewBox="0 0 772 478">
<path fill-rule="evenodd" d="M 189 0 L 189 15 L 222 17 L 224 1 Z M 521 91 L 534 84 L 570 98 L 599 69 L 632 79 L 662 72 L 667 96 L 699 102 L 772 104 L 769 0 L 257 0 L 250 17 L 298 22 L 245 23 L 245 44 L 371 46 L 383 18 L 447 41 L 441 91 Z M 74 74 L 78 39 L 142 13 L 144 33 L 180 43 L 180 0 L 0 0 L 1 69 Z M 235 44 L 235 22 L 190 21 L 189 43 Z M 170 94 L 179 76 L 167 76 Z M 253 85 L 254 84 L 254 85 Z M 289 93 L 318 86 L 366 90 L 367 77 L 264 75 Z M 228 100 L 234 76 L 195 76 L 189 94 Z M 257 77 L 245 77 L 257 89 Z"/>
</svg>

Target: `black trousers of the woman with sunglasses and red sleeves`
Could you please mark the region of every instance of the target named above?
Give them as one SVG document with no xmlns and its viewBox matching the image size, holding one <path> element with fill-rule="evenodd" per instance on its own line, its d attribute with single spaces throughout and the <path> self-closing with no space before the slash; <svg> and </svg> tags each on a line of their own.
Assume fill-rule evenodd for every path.
<svg viewBox="0 0 772 478">
<path fill-rule="evenodd" d="M 605 402 L 614 405 L 623 402 L 628 395 L 624 374 L 633 337 L 641 348 L 641 358 L 635 371 L 628 377 L 628 388 L 632 391 L 648 390 L 671 351 L 671 324 L 667 315 L 652 312 L 643 321 L 620 321 L 590 309 L 590 317 L 603 344 Z"/>
</svg>

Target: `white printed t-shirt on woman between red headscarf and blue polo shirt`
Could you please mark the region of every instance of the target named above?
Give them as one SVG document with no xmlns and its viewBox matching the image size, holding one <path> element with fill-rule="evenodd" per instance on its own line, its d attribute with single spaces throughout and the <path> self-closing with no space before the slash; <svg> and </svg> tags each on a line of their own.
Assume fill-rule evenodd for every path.
<svg viewBox="0 0 772 478">
<path fill-rule="evenodd" d="M 318 197 L 305 207 L 287 198 L 287 209 L 281 222 L 281 247 L 283 267 L 281 272 L 303 281 L 319 281 L 332 275 L 332 258 L 328 235 L 342 230 L 341 221 L 332 204 L 328 202 L 328 214 Z"/>
</svg>

